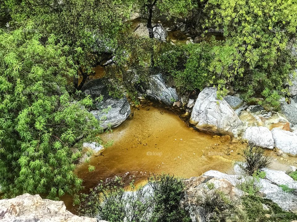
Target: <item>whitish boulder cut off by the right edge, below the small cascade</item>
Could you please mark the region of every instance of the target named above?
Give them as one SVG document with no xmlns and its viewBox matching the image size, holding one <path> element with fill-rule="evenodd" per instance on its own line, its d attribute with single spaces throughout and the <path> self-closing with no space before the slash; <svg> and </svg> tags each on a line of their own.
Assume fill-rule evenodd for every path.
<svg viewBox="0 0 297 222">
<path fill-rule="evenodd" d="M 274 147 L 290 153 L 293 155 L 297 154 L 297 135 L 290 131 L 281 130 L 279 128 L 273 128 L 271 130 L 272 137 L 274 140 Z"/>
</svg>

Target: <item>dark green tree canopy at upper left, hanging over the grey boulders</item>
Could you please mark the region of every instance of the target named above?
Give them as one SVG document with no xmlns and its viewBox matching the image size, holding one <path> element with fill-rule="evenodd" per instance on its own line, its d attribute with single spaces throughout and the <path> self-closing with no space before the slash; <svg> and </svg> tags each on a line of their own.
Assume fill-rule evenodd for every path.
<svg viewBox="0 0 297 222">
<path fill-rule="evenodd" d="M 127 66 L 139 75 L 138 81 L 147 76 L 147 48 L 154 44 L 129 29 L 133 5 L 133 0 L 11 0 L 9 7 L 14 27 L 32 21 L 45 39 L 55 35 L 58 43 L 69 47 L 67 54 L 77 65 L 75 88 L 80 90 L 99 65 L 104 67 L 110 91 L 119 97 L 123 91 L 135 94 L 135 76 Z"/>
</svg>

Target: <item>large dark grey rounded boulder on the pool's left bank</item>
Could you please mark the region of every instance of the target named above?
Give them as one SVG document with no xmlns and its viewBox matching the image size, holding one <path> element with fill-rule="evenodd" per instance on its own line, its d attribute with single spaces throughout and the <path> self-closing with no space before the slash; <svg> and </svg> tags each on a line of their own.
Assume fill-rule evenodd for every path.
<svg viewBox="0 0 297 222">
<path fill-rule="evenodd" d="M 92 80 L 85 84 L 82 92 L 91 95 L 93 98 L 103 96 L 103 100 L 96 103 L 97 110 L 90 111 L 97 120 L 101 121 L 100 125 L 103 129 L 110 126 L 117 127 L 131 113 L 127 98 L 125 96 L 120 99 L 111 97 L 101 79 Z"/>
</svg>

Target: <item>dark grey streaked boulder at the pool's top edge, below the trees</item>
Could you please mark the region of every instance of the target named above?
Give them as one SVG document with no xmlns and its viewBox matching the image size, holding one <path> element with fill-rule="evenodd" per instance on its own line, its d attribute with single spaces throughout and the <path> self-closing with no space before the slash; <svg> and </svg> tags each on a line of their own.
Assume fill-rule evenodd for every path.
<svg viewBox="0 0 297 222">
<path fill-rule="evenodd" d="M 162 74 L 150 76 L 146 95 L 149 99 L 160 101 L 169 106 L 179 100 L 179 95 L 177 94 L 176 89 L 166 86 Z"/>
</svg>

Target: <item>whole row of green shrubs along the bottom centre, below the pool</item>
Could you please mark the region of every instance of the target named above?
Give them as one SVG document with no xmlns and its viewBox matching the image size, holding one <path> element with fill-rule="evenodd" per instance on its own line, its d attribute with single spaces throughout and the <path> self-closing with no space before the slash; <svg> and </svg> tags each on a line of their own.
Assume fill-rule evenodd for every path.
<svg viewBox="0 0 297 222">
<path fill-rule="evenodd" d="M 110 222 L 167 222 L 190 221 L 180 206 L 184 184 L 181 179 L 170 175 L 154 175 L 145 187 L 130 183 L 125 192 L 121 178 L 109 183 L 100 183 L 89 194 L 76 195 L 78 212 L 85 216 L 98 216 Z"/>
</svg>

